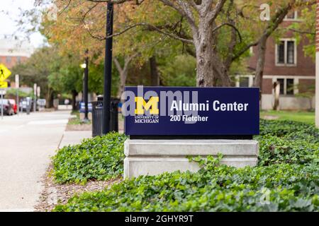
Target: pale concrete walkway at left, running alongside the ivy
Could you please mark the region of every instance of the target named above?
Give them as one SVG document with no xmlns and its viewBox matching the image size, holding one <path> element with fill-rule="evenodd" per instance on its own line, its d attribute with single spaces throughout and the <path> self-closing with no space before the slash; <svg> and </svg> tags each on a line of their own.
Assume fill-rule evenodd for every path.
<svg viewBox="0 0 319 226">
<path fill-rule="evenodd" d="M 33 211 L 50 156 L 60 143 L 77 143 L 89 136 L 89 132 L 65 134 L 69 113 L 31 112 L 0 119 L 0 211 Z"/>
</svg>

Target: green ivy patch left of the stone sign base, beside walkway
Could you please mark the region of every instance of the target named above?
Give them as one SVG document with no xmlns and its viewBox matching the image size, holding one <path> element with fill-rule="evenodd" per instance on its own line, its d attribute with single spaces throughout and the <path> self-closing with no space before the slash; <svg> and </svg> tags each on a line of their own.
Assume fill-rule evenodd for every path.
<svg viewBox="0 0 319 226">
<path fill-rule="evenodd" d="M 106 180 L 123 174 L 123 143 L 126 136 L 108 133 L 84 139 L 79 145 L 58 150 L 53 157 L 53 176 L 58 183 Z"/>
</svg>

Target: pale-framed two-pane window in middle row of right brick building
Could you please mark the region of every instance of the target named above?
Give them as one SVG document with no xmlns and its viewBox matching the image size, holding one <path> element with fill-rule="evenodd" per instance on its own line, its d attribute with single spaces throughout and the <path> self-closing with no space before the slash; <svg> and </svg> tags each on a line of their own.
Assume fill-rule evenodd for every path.
<svg viewBox="0 0 319 226">
<path fill-rule="evenodd" d="M 276 66 L 296 66 L 296 40 L 280 40 L 276 44 Z"/>
</svg>

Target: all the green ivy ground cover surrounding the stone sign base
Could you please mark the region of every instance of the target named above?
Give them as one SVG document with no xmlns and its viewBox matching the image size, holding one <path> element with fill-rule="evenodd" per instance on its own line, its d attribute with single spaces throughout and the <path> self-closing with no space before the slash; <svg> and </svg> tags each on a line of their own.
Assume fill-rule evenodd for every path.
<svg viewBox="0 0 319 226">
<path fill-rule="evenodd" d="M 199 161 L 202 166 L 199 172 L 164 173 L 125 180 L 105 191 L 74 196 L 55 211 L 318 211 L 319 130 L 300 122 L 264 120 L 261 120 L 260 129 L 261 134 L 256 137 L 260 145 L 257 167 L 236 169 L 219 165 L 221 156 L 208 157 L 208 160 Z M 93 142 L 94 139 L 97 140 Z M 77 178 L 75 181 L 81 182 L 82 177 L 108 179 L 121 175 L 125 136 L 113 133 L 94 139 L 84 142 L 90 145 L 80 145 L 80 153 L 89 156 L 85 157 L 89 159 L 88 166 L 88 162 L 81 161 L 80 165 L 70 167 L 69 160 L 77 154 L 72 157 L 68 154 L 69 158 L 64 160 L 60 155 L 60 162 L 65 161 L 65 165 L 55 167 L 68 173 L 66 177 L 55 174 L 57 181 L 65 178 L 60 182 L 73 182 Z M 99 160 L 95 156 L 99 153 L 96 149 L 103 147 L 97 142 L 107 147 L 102 148 L 100 157 L 109 155 L 107 152 L 118 152 L 117 157 L 105 160 L 106 165 L 112 165 L 108 161 L 116 161 L 114 171 L 103 165 L 95 170 L 95 161 Z M 117 143 L 119 148 L 109 143 Z M 91 151 L 92 147 L 96 151 Z M 70 150 L 66 148 L 64 152 Z M 98 169 L 106 170 L 105 174 L 109 175 Z M 73 177 L 73 174 L 78 176 Z"/>
</svg>

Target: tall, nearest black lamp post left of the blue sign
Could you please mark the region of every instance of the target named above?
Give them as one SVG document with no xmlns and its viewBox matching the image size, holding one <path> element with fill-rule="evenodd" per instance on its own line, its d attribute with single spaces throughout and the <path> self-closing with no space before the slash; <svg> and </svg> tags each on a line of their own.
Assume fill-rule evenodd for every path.
<svg viewBox="0 0 319 226">
<path fill-rule="evenodd" d="M 106 11 L 106 46 L 104 59 L 103 86 L 103 134 L 110 131 L 111 119 L 111 74 L 112 74 L 112 44 L 113 44 L 113 3 L 108 1 Z M 110 37 L 111 36 L 111 37 Z"/>
</svg>

